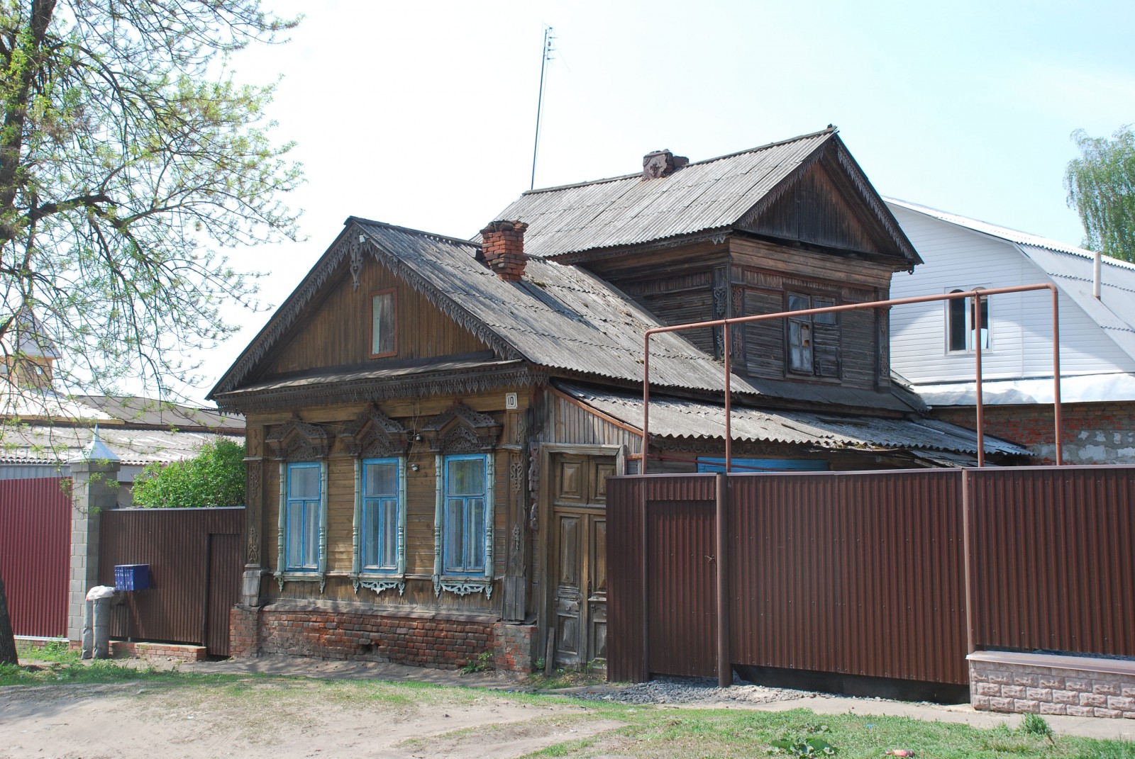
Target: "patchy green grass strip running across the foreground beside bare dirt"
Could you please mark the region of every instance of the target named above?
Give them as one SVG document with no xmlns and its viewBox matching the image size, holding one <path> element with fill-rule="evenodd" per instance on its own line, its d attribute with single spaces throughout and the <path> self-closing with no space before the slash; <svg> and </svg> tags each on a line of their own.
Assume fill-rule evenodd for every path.
<svg viewBox="0 0 1135 759">
<path fill-rule="evenodd" d="M 476 688 L 434 685 L 382 680 L 319 680 L 268 675 L 219 675 L 157 672 L 124 666 L 114 660 L 81 664 L 58 652 L 62 660 L 39 667 L 0 666 L 0 685 L 66 685 L 69 683 L 145 684 L 136 695 L 157 708 L 159 703 L 208 703 L 217 712 L 233 715 L 302 716 L 311 697 L 346 708 L 381 706 L 409 711 L 437 710 L 476 701 L 507 700 L 536 707 L 560 707 L 549 719 L 588 724 L 613 720 L 620 725 L 596 735 L 561 741 L 531 757 L 661 757 L 665 759 L 731 759 L 768 756 L 773 741 L 799 747 L 821 736 L 835 750 L 836 759 L 884 759 L 891 749 L 908 749 L 916 759 L 1135 759 L 1135 743 L 1048 736 L 1039 720 L 1027 728 L 980 730 L 952 723 L 920 722 L 907 717 L 827 715 L 798 709 L 757 711 L 743 708 L 687 709 L 669 706 L 629 706 L 582 701 L 563 695 L 507 693 Z M 42 660 L 42 658 L 41 658 Z M 131 693 L 134 689 L 131 688 Z M 254 707 L 254 708 L 250 708 Z M 563 707 L 568 707 L 566 710 Z M 180 707 L 179 707 L 180 708 Z M 372 709 L 371 709 L 372 710 Z M 236 718 L 236 717 L 234 717 Z M 533 714 L 529 724 L 546 722 Z M 313 717 L 314 719 L 314 717 Z M 262 732 L 270 734 L 272 720 Z M 318 730 L 318 724 L 312 724 Z M 415 748 L 430 753 L 439 741 L 462 742 L 476 737 L 468 727 L 443 736 L 415 739 Z M 508 726 L 501 726 L 502 735 Z M 781 754 L 790 756 L 790 754 Z"/>
</svg>

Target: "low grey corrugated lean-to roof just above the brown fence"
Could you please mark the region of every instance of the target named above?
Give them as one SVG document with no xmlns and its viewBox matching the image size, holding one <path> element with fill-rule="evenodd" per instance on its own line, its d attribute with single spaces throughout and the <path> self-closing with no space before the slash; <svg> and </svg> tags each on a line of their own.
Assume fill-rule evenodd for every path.
<svg viewBox="0 0 1135 759">
<path fill-rule="evenodd" d="M 597 390 L 557 382 L 563 391 L 636 429 L 642 428 L 642 398 L 629 393 Z M 650 397 L 650 435 L 667 438 L 724 439 L 722 404 L 661 395 Z M 977 453 L 977 435 L 932 419 L 881 419 L 733 406 L 734 440 L 813 445 L 821 448 L 945 450 Z M 1028 450 L 985 436 L 986 453 L 1028 455 Z"/>
</svg>

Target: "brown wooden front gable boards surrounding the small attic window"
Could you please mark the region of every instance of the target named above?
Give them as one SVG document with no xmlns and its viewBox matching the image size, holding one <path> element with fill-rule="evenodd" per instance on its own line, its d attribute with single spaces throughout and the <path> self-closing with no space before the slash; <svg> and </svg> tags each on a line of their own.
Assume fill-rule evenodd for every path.
<svg viewBox="0 0 1135 759">
<path fill-rule="evenodd" d="M 485 341 L 370 256 L 363 261 L 358 287 L 343 265 L 321 289 L 263 362 L 258 372 L 260 379 L 489 349 Z M 395 294 L 395 351 L 393 355 L 372 359 L 371 298 L 386 292 Z"/>
</svg>

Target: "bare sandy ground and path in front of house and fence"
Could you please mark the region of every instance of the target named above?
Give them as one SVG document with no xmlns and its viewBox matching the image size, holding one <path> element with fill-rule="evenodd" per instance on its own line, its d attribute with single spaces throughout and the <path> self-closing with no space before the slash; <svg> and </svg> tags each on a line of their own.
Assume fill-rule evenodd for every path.
<svg viewBox="0 0 1135 759">
<path fill-rule="evenodd" d="M 146 663 L 134 661 L 137 666 Z M 170 666 L 170 663 L 166 663 Z M 178 664 L 183 672 L 271 674 L 296 680 L 249 681 L 213 689 L 166 684 L 41 685 L 0 688 L 0 759 L 165 759 L 166 757 L 292 759 L 376 757 L 507 759 L 620 726 L 588 716 L 580 706 L 518 703 L 491 692 L 442 694 L 384 690 L 384 681 L 524 690 L 513 674 L 336 663 L 287 657 Z M 345 689 L 343 680 L 367 689 Z M 595 685 L 574 691 L 617 693 Z M 720 693 L 720 691 L 718 691 Z M 595 698 L 592 695 L 592 698 Z M 1017 715 L 976 712 L 968 706 L 883 699 L 793 698 L 772 703 L 700 701 L 671 708 L 813 709 L 958 722 L 975 727 Z M 1135 737 L 1135 720 L 1048 717 L 1062 734 Z"/>
</svg>

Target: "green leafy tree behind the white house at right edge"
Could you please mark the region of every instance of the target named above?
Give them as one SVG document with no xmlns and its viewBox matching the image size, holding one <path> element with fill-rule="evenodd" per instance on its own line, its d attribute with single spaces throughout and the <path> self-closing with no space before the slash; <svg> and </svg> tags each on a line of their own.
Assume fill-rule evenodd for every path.
<svg viewBox="0 0 1135 759">
<path fill-rule="evenodd" d="M 1081 151 L 1065 171 L 1068 205 L 1084 222 L 1084 247 L 1135 261 L 1135 132 L 1120 127 L 1107 137 L 1071 135 Z"/>
</svg>

